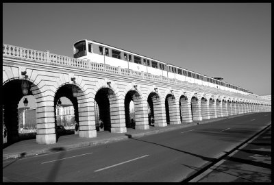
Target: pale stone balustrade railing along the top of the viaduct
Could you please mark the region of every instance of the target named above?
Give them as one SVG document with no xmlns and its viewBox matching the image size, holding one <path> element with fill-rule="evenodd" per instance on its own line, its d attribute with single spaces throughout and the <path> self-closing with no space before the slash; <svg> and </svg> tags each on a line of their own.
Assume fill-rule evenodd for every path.
<svg viewBox="0 0 274 185">
<path fill-rule="evenodd" d="M 184 86 L 192 87 L 192 88 L 199 88 L 199 90 L 209 90 L 216 91 L 216 89 L 200 86 L 198 84 L 190 83 L 181 81 L 178 79 L 171 79 L 168 77 L 160 76 L 160 75 L 152 75 L 149 73 L 144 73 L 140 71 L 133 71 L 132 69 L 122 69 L 120 67 L 110 66 L 107 64 L 99 64 L 95 62 L 90 62 L 89 60 L 79 60 L 67 56 L 60 56 L 53 53 L 49 53 L 49 51 L 36 51 L 34 49 L 25 49 L 23 47 L 16 47 L 12 45 L 5 45 L 3 44 L 3 56 L 11 56 L 26 60 L 36 60 L 36 62 L 53 64 L 58 66 L 70 66 L 77 69 L 86 69 L 88 71 L 102 71 L 105 73 L 114 73 L 118 75 L 123 75 L 127 77 L 137 77 L 139 79 L 147 79 L 153 80 L 155 82 L 164 82 L 170 84 L 182 84 Z M 225 90 L 222 90 L 222 92 Z M 231 94 L 235 94 L 234 92 L 230 92 Z M 237 96 L 240 93 L 236 93 Z M 255 98 L 255 97 L 254 97 Z M 258 98 L 258 97 L 257 97 Z M 256 99 L 257 99 L 256 98 Z M 255 100 L 255 99 L 254 99 Z"/>
</svg>

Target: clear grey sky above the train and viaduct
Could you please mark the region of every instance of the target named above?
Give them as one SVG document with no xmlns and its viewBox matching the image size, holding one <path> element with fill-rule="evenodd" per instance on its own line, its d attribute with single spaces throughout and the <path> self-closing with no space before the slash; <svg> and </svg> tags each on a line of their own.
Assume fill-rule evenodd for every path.
<svg viewBox="0 0 274 185">
<path fill-rule="evenodd" d="M 3 43 L 96 40 L 271 95 L 271 3 L 3 3 Z"/>
</svg>

